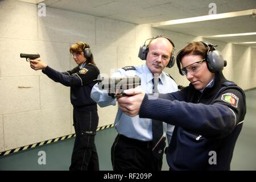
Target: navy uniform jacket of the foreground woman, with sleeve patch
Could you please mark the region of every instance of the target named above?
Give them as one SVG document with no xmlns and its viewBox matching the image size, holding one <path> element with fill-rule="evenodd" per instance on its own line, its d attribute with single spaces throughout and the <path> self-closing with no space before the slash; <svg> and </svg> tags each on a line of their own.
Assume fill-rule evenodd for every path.
<svg viewBox="0 0 256 182">
<path fill-rule="evenodd" d="M 214 84 L 203 93 L 190 84 L 175 93 L 159 94 L 156 100 L 150 97 L 144 97 L 139 116 L 175 125 L 167 150 L 171 170 L 230 169 L 246 113 L 240 87 L 216 73 Z"/>
</svg>

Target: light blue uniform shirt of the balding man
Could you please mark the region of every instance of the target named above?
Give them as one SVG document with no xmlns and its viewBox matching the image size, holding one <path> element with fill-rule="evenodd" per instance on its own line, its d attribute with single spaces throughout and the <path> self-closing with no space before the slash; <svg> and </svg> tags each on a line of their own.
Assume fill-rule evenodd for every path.
<svg viewBox="0 0 256 182">
<path fill-rule="evenodd" d="M 127 77 L 127 76 L 139 76 L 141 77 L 141 89 L 145 93 L 152 93 L 152 78 L 154 76 L 146 66 L 146 64 L 135 67 L 136 70 L 118 69 L 117 72 L 113 73 L 112 77 Z M 166 73 L 162 72 L 159 75 L 160 81 L 158 84 L 159 93 L 171 93 L 176 92 L 177 85 L 172 78 L 167 76 Z M 93 86 L 91 95 L 92 99 L 98 103 L 101 107 L 116 105 L 115 98 L 108 96 L 107 90 L 100 90 L 98 84 Z M 126 137 L 138 139 L 142 141 L 152 140 L 152 119 L 139 118 L 139 115 L 130 117 L 118 109 L 117 115 L 114 122 L 115 129 L 119 134 L 125 135 Z M 163 123 L 164 135 L 168 135 L 168 140 L 172 136 L 174 126 Z M 168 130 L 168 131 L 167 131 Z"/>
</svg>

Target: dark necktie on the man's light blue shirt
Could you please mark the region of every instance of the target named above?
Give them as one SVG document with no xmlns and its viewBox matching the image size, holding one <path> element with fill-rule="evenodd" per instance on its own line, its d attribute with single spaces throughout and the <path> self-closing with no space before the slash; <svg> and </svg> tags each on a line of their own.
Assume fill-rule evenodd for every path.
<svg viewBox="0 0 256 182">
<path fill-rule="evenodd" d="M 154 82 L 154 78 L 152 79 L 152 92 L 159 93 L 158 82 L 160 81 L 160 78 L 156 78 L 155 80 L 156 83 Z M 152 119 L 152 152 L 156 158 L 160 159 L 162 157 L 165 144 L 165 139 L 163 137 L 163 122 Z"/>
</svg>

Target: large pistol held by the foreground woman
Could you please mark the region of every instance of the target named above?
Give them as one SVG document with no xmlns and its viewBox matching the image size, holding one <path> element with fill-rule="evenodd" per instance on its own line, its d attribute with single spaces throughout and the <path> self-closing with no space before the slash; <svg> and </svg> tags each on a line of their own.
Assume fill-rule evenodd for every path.
<svg viewBox="0 0 256 182">
<path fill-rule="evenodd" d="M 141 85 L 141 78 L 138 76 L 129 76 L 129 77 L 112 77 L 97 79 L 98 88 L 100 90 L 108 90 L 109 96 L 119 98 L 125 97 L 126 94 L 123 93 L 123 90 L 135 88 L 136 86 Z"/>
</svg>

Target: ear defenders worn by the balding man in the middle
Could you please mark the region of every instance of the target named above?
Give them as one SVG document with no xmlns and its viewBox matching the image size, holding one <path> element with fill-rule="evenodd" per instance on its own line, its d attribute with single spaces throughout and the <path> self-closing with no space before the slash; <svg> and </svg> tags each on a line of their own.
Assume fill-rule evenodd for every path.
<svg viewBox="0 0 256 182">
<path fill-rule="evenodd" d="M 169 63 L 167 64 L 166 67 L 168 68 L 171 68 L 174 66 L 174 63 L 175 63 L 175 46 L 174 46 L 174 43 L 171 41 L 171 39 L 167 38 L 167 36 L 163 36 L 163 35 L 158 35 L 158 36 L 155 36 L 154 38 L 150 38 L 150 39 L 147 39 L 147 40 L 150 40 L 150 42 L 146 45 L 146 42 L 147 40 L 145 40 L 144 42 L 144 45 L 142 47 L 139 48 L 139 55 L 138 57 L 141 59 L 141 60 L 146 60 L 147 59 L 147 53 L 148 53 L 148 47 L 151 43 L 152 40 L 154 39 L 157 39 L 157 38 L 166 38 L 170 41 L 170 43 L 172 44 L 172 54 L 171 54 L 171 58 L 170 58 L 170 61 Z"/>
</svg>

